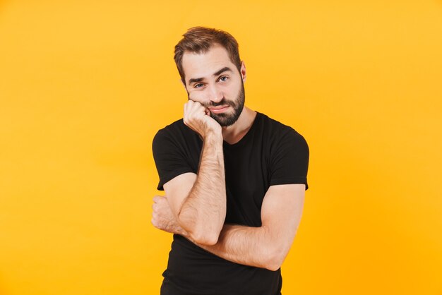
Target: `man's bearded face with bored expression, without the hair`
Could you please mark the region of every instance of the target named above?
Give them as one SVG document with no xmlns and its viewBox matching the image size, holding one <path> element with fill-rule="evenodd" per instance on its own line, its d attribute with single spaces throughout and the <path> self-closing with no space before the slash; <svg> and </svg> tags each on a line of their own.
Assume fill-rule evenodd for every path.
<svg viewBox="0 0 442 295">
<path fill-rule="evenodd" d="M 244 64 L 239 73 L 227 50 L 215 45 L 203 54 L 184 53 L 182 65 L 189 100 L 203 104 L 221 126 L 234 124 L 244 107 Z"/>
</svg>

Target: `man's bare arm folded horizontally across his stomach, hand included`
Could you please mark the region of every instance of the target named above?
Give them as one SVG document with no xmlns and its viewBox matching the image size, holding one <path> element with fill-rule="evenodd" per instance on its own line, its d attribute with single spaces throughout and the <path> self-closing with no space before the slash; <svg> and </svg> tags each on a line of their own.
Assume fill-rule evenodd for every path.
<svg viewBox="0 0 442 295">
<path fill-rule="evenodd" d="M 277 270 L 292 246 L 301 220 L 304 193 L 304 184 L 270 186 L 261 208 L 261 227 L 226 224 L 215 245 L 196 244 L 234 263 Z M 186 231 L 182 231 L 171 220 L 172 215 L 166 216 L 167 203 L 162 203 L 156 209 L 154 207 L 154 216 L 162 216 L 164 220 L 168 220 L 157 222 L 159 229 L 186 236 Z M 165 224 L 168 226 L 165 227 Z"/>
</svg>

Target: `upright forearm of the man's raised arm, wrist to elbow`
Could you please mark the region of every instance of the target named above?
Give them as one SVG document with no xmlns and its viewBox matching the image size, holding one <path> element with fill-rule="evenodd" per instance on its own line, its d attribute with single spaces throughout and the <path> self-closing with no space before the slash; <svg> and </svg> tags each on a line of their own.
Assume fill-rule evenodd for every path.
<svg viewBox="0 0 442 295">
<path fill-rule="evenodd" d="M 191 239 L 214 244 L 226 215 L 225 168 L 222 136 L 212 133 L 203 140 L 198 174 L 177 215 Z"/>
</svg>

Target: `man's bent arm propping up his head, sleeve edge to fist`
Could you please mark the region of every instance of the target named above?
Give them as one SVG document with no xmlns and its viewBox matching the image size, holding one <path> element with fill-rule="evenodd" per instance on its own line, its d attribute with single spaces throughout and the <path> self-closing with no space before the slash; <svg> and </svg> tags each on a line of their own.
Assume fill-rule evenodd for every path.
<svg viewBox="0 0 442 295">
<path fill-rule="evenodd" d="M 225 221 L 226 192 L 221 126 L 198 102 L 184 107 L 184 124 L 203 138 L 198 175 L 181 174 L 165 183 L 167 201 L 179 226 L 189 238 L 213 245 Z"/>
</svg>

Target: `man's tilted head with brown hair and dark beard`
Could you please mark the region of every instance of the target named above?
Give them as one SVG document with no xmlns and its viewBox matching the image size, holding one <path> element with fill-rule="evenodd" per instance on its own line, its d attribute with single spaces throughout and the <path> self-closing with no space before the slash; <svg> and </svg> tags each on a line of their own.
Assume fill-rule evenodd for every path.
<svg viewBox="0 0 442 295">
<path fill-rule="evenodd" d="M 246 68 L 238 43 L 227 32 L 191 28 L 175 46 L 175 63 L 189 100 L 200 102 L 221 126 L 230 126 L 244 107 Z"/>
</svg>

